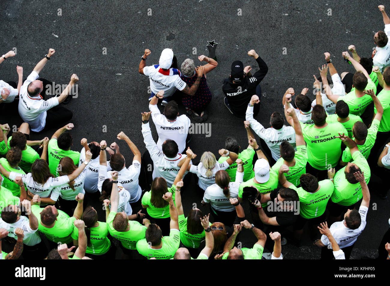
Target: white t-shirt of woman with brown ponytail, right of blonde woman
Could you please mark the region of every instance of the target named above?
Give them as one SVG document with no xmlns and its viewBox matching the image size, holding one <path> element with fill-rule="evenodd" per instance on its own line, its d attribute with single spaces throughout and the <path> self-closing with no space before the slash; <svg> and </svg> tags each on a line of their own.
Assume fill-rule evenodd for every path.
<svg viewBox="0 0 390 286">
<path fill-rule="evenodd" d="M 236 207 L 230 204 L 230 198 L 238 197 L 238 188 L 240 184 L 244 181 L 244 172 L 236 172 L 236 181 L 229 183 L 229 193 L 230 196 L 227 198 L 223 194 L 223 189 L 220 188 L 217 184 L 212 184 L 207 187 L 204 192 L 203 201 L 206 204 L 210 204 L 216 211 L 230 212 L 235 211 Z"/>
</svg>

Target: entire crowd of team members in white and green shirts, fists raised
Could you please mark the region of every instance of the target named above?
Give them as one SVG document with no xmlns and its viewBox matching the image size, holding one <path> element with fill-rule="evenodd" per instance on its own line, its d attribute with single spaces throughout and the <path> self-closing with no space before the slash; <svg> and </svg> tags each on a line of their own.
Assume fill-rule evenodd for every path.
<svg viewBox="0 0 390 286">
<path fill-rule="evenodd" d="M 298 95 L 287 88 L 281 98 L 284 114 L 273 112 L 269 128 L 255 119 L 265 108 L 259 97 L 268 72 L 265 61 L 248 51 L 259 65 L 254 75 L 250 66 L 234 61 L 223 84 L 224 104 L 245 118 L 248 146 L 241 150 L 238 139 L 227 137 L 218 159 L 210 151 L 193 153 L 191 120 L 179 115 L 176 102 L 193 120 L 207 120 L 211 91 L 205 75 L 217 67 L 216 60 L 201 55 L 206 65 L 196 67 L 186 59 L 178 68 L 172 49 L 164 49 L 159 63 L 147 66 L 151 51 L 145 49 L 139 73 L 149 77 L 151 95 L 139 127 L 146 151 L 141 154 L 120 132 L 117 139 L 133 153 L 127 164 L 115 142 L 108 146 L 105 140 L 83 138 L 76 151 L 73 114 L 63 105 L 74 95 L 78 76 L 71 76 L 60 95 L 39 78 L 54 49 L 25 81 L 18 66 L 18 83 L 0 81 L 2 112 L 18 112 L 23 119 L 16 132 L 11 132 L 12 118 L 2 117 L 0 124 L 1 257 L 283 259 L 282 246 L 299 247 L 305 235 L 321 247 L 322 259 L 349 259 L 366 225 L 370 191 L 387 198 L 390 19 L 383 5 L 378 8 L 385 29 L 374 35 L 371 58 L 360 58 L 349 46 L 352 56 L 342 55 L 355 73 L 339 75 L 325 52 L 326 64 L 318 78 L 314 75 L 316 99 L 308 97 L 309 88 Z M 9 51 L 0 63 L 12 56 Z M 30 140 L 30 130 L 55 129 L 51 138 Z M 201 197 L 207 212 L 197 204 L 184 212 L 183 191 Z M 242 247 L 251 243 L 243 238 L 244 228 L 257 240 L 252 248 Z M 378 247 L 379 258 L 390 258 L 389 241 L 390 231 Z"/>
</svg>

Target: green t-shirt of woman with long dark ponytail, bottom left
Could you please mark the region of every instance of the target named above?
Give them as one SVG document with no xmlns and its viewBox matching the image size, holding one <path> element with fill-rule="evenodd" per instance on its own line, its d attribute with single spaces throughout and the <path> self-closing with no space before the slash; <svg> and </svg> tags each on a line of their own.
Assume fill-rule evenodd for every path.
<svg viewBox="0 0 390 286">
<path fill-rule="evenodd" d="M 90 227 L 90 244 L 87 245 L 85 253 L 100 255 L 105 254 L 110 249 L 111 242 L 108 239 L 107 223 L 99 221 L 99 226 Z M 73 228 L 72 238 L 78 240 L 78 228 Z"/>
</svg>

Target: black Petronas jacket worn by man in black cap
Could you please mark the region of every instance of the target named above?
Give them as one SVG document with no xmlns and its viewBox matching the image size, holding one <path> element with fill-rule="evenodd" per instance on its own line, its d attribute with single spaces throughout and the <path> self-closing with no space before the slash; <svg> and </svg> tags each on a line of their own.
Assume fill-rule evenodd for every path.
<svg viewBox="0 0 390 286">
<path fill-rule="evenodd" d="M 268 72 L 268 66 L 260 56 L 256 61 L 259 70 L 254 75 L 245 76 L 243 82 L 239 83 L 233 83 L 230 77 L 223 82 L 222 91 L 227 98 L 230 109 L 236 116 L 245 117 L 246 107 L 248 107 L 252 95 L 256 94 L 257 85 Z M 258 96 L 261 97 L 261 95 Z M 257 107 L 257 111 L 254 110 L 254 115 L 259 112 L 260 104 L 256 104 L 255 107 Z"/>
</svg>

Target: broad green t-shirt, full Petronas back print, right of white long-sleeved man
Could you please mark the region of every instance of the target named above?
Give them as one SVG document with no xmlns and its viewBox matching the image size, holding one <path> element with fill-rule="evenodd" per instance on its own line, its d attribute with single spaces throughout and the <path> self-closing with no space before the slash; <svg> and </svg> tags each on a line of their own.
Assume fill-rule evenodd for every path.
<svg viewBox="0 0 390 286">
<path fill-rule="evenodd" d="M 315 128 L 314 124 L 301 123 L 303 138 L 307 143 L 307 161 L 317 170 L 335 167 L 341 156 L 339 133 L 347 134 L 340 122 L 328 123 L 324 128 Z"/>
</svg>

